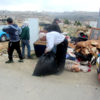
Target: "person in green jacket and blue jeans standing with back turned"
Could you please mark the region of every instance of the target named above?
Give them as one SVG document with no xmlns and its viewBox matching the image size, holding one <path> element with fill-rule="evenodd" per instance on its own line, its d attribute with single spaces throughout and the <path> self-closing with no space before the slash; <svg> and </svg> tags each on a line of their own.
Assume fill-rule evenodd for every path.
<svg viewBox="0 0 100 100">
<path fill-rule="evenodd" d="M 28 23 L 25 22 L 22 26 L 21 32 L 21 40 L 22 40 L 22 56 L 25 58 L 25 46 L 27 47 L 27 58 L 31 58 L 30 55 L 30 34 L 29 34 L 29 27 Z"/>
</svg>

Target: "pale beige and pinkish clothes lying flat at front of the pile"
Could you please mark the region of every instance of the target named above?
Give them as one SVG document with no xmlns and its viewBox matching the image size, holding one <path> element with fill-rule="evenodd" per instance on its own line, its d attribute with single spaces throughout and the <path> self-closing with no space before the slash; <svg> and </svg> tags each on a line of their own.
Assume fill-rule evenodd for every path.
<svg viewBox="0 0 100 100">
<path fill-rule="evenodd" d="M 78 62 L 66 60 L 65 70 L 72 71 L 72 72 L 90 72 L 91 69 L 88 66 L 82 66 Z"/>
</svg>

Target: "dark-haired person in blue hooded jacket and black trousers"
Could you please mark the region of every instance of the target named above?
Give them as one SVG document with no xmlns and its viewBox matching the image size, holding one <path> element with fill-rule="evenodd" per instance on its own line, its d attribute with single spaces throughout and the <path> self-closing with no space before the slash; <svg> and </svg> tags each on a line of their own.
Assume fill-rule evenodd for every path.
<svg viewBox="0 0 100 100">
<path fill-rule="evenodd" d="M 3 28 L 3 31 L 9 34 L 10 40 L 8 44 L 8 58 L 9 60 L 6 63 L 13 63 L 13 51 L 16 49 L 19 55 L 19 62 L 23 62 L 21 50 L 20 50 L 20 38 L 19 35 L 21 33 L 21 29 L 16 25 L 13 24 L 12 18 L 7 18 L 8 27 Z"/>
</svg>

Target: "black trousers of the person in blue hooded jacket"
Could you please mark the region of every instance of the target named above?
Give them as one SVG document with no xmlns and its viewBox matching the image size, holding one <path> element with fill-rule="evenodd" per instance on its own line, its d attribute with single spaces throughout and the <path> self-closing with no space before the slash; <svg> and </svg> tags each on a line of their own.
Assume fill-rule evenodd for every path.
<svg viewBox="0 0 100 100">
<path fill-rule="evenodd" d="M 17 51 L 19 58 L 22 59 L 21 49 L 20 49 L 20 41 L 18 42 L 9 42 L 8 44 L 8 58 L 9 60 L 13 60 L 13 52 L 14 49 Z"/>
</svg>

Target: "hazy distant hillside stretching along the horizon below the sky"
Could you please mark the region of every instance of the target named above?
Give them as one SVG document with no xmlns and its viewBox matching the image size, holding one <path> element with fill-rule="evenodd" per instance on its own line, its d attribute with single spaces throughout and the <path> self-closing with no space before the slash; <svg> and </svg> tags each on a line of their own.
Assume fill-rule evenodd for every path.
<svg viewBox="0 0 100 100">
<path fill-rule="evenodd" d="M 47 19 L 52 20 L 55 17 L 61 19 L 69 19 L 69 20 L 79 20 L 79 21 L 95 21 L 98 19 L 98 12 L 82 12 L 82 11 L 74 11 L 74 12 L 20 12 L 20 11 L 0 11 L 0 17 L 10 16 L 15 19 L 25 19 L 25 18 L 39 18 L 39 19 Z"/>
</svg>

